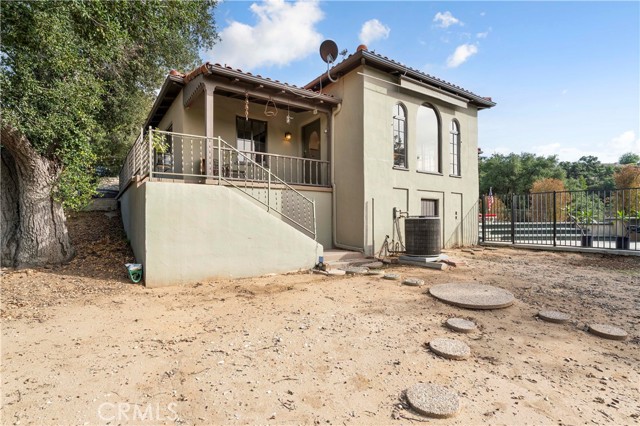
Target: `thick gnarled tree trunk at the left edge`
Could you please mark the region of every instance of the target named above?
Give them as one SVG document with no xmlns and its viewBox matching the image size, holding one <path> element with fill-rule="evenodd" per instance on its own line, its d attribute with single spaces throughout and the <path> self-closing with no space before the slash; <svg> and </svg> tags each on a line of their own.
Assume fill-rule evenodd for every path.
<svg viewBox="0 0 640 426">
<path fill-rule="evenodd" d="M 38 154 L 12 127 L 2 126 L 2 266 L 69 261 L 74 250 L 64 211 L 53 199 L 60 167 Z"/>
</svg>

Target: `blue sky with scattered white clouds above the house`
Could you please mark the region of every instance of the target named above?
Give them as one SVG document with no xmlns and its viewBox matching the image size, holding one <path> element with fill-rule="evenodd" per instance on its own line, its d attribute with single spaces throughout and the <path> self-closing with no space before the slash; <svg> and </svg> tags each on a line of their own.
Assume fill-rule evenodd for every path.
<svg viewBox="0 0 640 426">
<path fill-rule="evenodd" d="M 491 96 L 485 154 L 640 153 L 639 2 L 224 1 L 205 61 L 304 85 L 333 39 Z"/>
</svg>

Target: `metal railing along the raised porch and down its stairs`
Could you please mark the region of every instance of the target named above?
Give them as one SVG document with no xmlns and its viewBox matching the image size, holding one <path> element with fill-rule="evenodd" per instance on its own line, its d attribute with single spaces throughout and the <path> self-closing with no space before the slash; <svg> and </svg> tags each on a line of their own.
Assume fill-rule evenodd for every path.
<svg viewBox="0 0 640 426">
<path fill-rule="evenodd" d="M 275 172 L 269 165 L 271 169 L 276 167 Z M 328 162 L 240 151 L 220 137 L 149 129 L 136 139 L 127 155 L 120 171 L 120 192 L 134 176 L 225 184 L 315 239 L 315 201 L 285 179 L 294 184 L 319 185 L 328 181 L 328 172 Z"/>
</svg>

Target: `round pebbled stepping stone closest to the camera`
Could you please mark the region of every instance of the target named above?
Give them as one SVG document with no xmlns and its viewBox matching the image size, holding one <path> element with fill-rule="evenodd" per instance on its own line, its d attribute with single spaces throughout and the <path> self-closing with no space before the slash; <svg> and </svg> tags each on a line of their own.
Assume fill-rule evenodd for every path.
<svg viewBox="0 0 640 426">
<path fill-rule="evenodd" d="M 418 383 L 406 390 L 407 402 L 418 413 L 437 418 L 455 416 L 460 410 L 458 394 L 444 386 Z"/>
</svg>

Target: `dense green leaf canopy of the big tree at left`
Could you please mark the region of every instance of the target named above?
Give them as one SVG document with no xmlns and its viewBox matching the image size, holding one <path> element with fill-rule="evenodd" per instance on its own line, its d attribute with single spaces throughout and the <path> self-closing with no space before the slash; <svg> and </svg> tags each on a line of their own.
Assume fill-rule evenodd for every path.
<svg viewBox="0 0 640 426">
<path fill-rule="evenodd" d="M 116 172 L 171 68 L 217 40 L 214 0 L 0 3 L 2 122 L 62 166 L 79 208 L 96 165 Z"/>
</svg>

